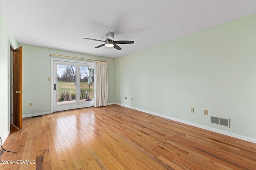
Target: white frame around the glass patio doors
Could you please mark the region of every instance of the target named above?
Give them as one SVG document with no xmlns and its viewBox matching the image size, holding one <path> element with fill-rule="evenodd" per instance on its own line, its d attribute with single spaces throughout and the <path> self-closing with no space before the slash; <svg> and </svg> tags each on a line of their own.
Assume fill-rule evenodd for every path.
<svg viewBox="0 0 256 170">
<path fill-rule="evenodd" d="M 53 75 L 54 74 L 54 64 L 53 64 L 53 62 L 54 61 L 64 61 L 64 62 L 70 62 L 70 63 L 83 63 L 83 64 L 93 64 L 94 65 L 94 62 L 86 62 L 86 61 L 80 61 L 80 60 L 69 60 L 69 59 L 60 59 L 60 58 L 51 58 L 51 113 L 53 113 L 53 101 L 54 101 L 54 98 L 53 98 L 53 93 L 54 93 L 54 81 L 53 81 L 54 80 L 54 75 Z"/>
</svg>

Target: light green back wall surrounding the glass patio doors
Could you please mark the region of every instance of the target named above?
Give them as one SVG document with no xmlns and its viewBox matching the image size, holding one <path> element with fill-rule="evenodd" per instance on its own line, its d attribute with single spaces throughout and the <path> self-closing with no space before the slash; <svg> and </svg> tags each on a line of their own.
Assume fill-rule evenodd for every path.
<svg viewBox="0 0 256 170">
<path fill-rule="evenodd" d="M 115 102 L 114 59 L 32 45 L 20 45 L 23 46 L 23 90 L 26 91 L 22 100 L 23 115 L 51 111 L 51 82 L 47 80 L 48 77 L 51 77 L 50 54 L 107 61 L 109 71 L 108 103 Z M 55 56 L 54 58 L 70 59 Z M 78 59 L 78 61 L 81 60 Z M 30 107 L 29 103 L 33 103 L 33 106 Z"/>
</svg>

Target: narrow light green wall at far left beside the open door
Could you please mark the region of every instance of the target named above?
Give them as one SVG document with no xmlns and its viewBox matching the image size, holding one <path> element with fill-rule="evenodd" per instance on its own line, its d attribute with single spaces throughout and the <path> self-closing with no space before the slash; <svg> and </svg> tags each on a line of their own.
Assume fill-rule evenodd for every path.
<svg viewBox="0 0 256 170">
<path fill-rule="evenodd" d="M 18 43 L 0 13 L 0 137 L 6 137 L 10 129 L 10 45 L 15 49 Z"/>
</svg>

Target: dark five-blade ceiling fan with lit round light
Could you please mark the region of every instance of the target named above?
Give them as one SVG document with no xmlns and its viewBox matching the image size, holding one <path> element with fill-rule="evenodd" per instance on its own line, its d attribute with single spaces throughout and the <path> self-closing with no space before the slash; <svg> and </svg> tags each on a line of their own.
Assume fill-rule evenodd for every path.
<svg viewBox="0 0 256 170">
<path fill-rule="evenodd" d="M 106 46 L 106 47 L 114 47 L 115 49 L 117 50 L 121 50 L 121 47 L 119 47 L 118 45 L 116 44 L 133 44 L 134 41 L 114 41 L 114 33 L 112 32 L 108 32 L 106 34 L 106 40 L 105 41 L 102 41 L 102 40 L 98 40 L 98 39 L 91 39 L 91 38 L 84 38 L 84 39 L 90 39 L 90 40 L 94 40 L 94 41 L 101 41 L 101 42 L 105 42 L 104 44 L 102 45 L 99 45 L 97 47 L 94 47 L 95 49 L 99 48 L 99 47 L 102 47 L 102 46 Z"/>
</svg>

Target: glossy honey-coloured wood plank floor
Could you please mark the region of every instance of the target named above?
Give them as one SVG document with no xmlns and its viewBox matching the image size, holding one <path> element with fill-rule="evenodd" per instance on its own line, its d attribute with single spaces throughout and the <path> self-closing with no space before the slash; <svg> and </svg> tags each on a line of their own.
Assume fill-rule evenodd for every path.
<svg viewBox="0 0 256 170">
<path fill-rule="evenodd" d="M 18 153 L 0 150 L 15 164 L 1 170 L 256 170 L 254 143 L 118 105 L 22 121 L 3 145 Z"/>
</svg>

